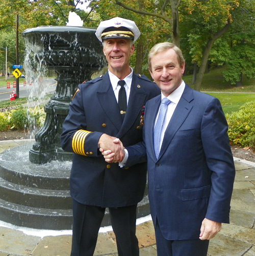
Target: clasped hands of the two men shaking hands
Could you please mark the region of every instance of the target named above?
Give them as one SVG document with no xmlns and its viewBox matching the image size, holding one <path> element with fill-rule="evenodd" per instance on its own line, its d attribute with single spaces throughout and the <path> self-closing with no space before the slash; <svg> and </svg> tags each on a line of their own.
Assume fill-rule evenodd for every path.
<svg viewBox="0 0 255 256">
<path fill-rule="evenodd" d="M 106 162 L 121 162 L 125 157 L 124 147 L 119 138 L 104 133 L 100 136 L 98 145 Z"/>
</svg>

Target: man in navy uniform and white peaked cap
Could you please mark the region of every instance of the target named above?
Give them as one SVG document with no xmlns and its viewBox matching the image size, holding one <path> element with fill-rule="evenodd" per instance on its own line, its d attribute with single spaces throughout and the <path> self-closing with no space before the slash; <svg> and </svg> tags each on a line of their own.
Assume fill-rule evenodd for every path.
<svg viewBox="0 0 255 256">
<path fill-rule="evenodd" d="M 145 76 L 135 75 L 129 66 L 134 41 L 140 36 L 134 21 L 119 17 L 105 20 L 95 34 L 103 42 L 108 72 L 78 86 L 61 135 L 62 148 L 74 152 L 71 255 L 93 255 L 105 208 L 109 207 L 118 255 L 137 256 L 136 208 L 144 195 L 146 163 L 122 170 L 118 164 L 105 162 L 99 146 L 115 152 L 120 151 L 113 143 L 115 137 L 124 147 L 142 141 L 144 105 L 160 90 Z"/>
</svg>

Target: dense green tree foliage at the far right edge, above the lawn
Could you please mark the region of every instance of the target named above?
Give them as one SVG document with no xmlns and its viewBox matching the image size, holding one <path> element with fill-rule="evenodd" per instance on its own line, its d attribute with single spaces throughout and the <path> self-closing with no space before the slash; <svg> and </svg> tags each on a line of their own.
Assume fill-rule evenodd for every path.
<svg viewBox="0 0 255 256">
<path fill-rule="evenodd" d="M 229 58 L 225 59 L 227 69 L 223 71 L 226 81 L 242 85 L 242 77 L 255 77 L 255 1 L 240 1 L 235 19 L 225 41 L 229 46 Z"/>
</svg>

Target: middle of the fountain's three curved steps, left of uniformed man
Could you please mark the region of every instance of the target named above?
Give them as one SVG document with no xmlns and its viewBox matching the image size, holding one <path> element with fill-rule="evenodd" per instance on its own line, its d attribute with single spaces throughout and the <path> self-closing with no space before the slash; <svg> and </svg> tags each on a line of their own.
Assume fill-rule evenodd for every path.
<svg viewBox="0 0 255 256">
<path fill-rule="evenodd" d="M 0 177 L 0 198 L 11 203 L 30 207 L 52 209 L 72 208 L 69 190 L 45 190 L 29 188 L 6 181 Z"/>
</svg>

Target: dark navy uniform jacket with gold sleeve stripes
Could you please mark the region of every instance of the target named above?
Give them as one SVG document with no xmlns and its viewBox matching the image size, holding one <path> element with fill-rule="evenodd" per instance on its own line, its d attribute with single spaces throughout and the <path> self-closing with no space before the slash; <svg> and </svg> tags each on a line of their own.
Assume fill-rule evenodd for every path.
<svg viewBox="0 0 255 256">
<path fill-rule="evenodd" d="M 129 169 L 121 169 L 118 163 L 108 164 L 98 150 L 98 139 L 106 133 L 118 137 L 124 147 L 142 141 L 142 107 L 159 94 L 155 83 L 133 74 L 122 123 L 108 72 L 78 86 L 61 135 L 62 148 L 74 152 L 70 174 L 70 193 L 74 200 L 102 207 L 134 205 L 142 200 L 146 163 Z"/>
</svg>

